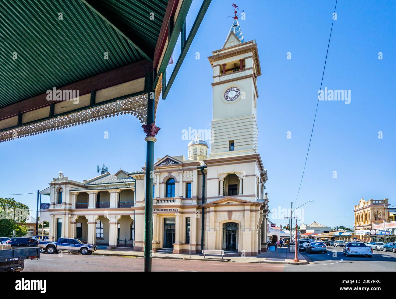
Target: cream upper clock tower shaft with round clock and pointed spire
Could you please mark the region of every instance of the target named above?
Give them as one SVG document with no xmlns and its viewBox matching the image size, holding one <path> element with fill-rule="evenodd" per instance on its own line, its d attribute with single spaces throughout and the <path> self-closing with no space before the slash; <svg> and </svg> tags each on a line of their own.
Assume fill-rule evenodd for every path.
<svg viewBox="0 0 396 299">
<path fill-rule="evenodd" d="M 223 48 L 213 51 L 212 143 L 209 159 L 257 154 L 257 77 L 261 75 L 255 40 L 246 42 L 233 23 Z"/>
</svg>

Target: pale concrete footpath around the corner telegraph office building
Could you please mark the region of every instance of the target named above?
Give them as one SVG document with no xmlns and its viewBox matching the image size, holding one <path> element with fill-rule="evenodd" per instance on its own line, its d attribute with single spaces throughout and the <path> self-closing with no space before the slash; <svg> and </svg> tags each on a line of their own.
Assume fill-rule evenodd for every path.
<svg viewBox="0 0 396 299">
<path fill-rule="evenodd" d="M 113 256 L 122 256 L 122 257 L 144 257 L 143 251 L 131 251 L 131 249 L 111 249 L 111 250 L 101 250 L 98 249 L 93 253 L 93 255 L 113 255 Z M 154 259 L 185 259 L 185 260 L 194 260 L 194 261 L 221 261 L 228 263 L 269 263 L 269 264 L 289 264 L 289 265 L 307 265 L 309 264 L 307 259 L 303 257 L 301 254 L 298 255 L 299 262 L 294 262 L 295 253 L 289 252 L 289 248 L 278 248 L 276 251 L 268 251 L 260 253 L 256 256 L 251 257 L 241 257 L 240 255 L 225 255 L 223 259 L 221 259 L 218 255 L 206 255 L 204 259 L 204 255 L 201 254 L 174 254 L 174 253 L 156 253 L 152 254 Z"/>
</svg>

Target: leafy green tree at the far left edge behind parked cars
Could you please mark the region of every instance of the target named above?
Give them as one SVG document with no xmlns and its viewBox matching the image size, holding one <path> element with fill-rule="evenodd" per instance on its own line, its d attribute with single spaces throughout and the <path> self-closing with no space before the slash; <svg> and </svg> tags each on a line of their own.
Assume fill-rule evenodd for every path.
<svg viewBox="0 0 396 299">
<path fill-rule="evenodd" d="M 27 227 L 23 227 L 29 217 L 29 207 L 15 201 L 13 198 L 0 197 L 0 236 L 25 236 Z"/>
</svg>

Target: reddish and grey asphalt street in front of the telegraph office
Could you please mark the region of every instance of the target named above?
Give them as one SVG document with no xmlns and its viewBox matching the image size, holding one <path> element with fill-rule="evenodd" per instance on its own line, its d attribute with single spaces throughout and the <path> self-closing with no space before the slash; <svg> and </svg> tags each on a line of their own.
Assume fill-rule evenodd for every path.
<svg viewBox="0 0 396 299">
<path fill-rule="evenodd" d="M 153 259 L 153 271 L 395 271 L 396 253 L 374 251 L 373 257 L 346 257 L 342 248 L 329 247 L 326 253 L 305 253 L 310 265 L 275 265 Z M 143 258 L 104 255 L 47 254 L 38 261 L 26 261 L 24 271 L 142 271 Z"/>
</svg>

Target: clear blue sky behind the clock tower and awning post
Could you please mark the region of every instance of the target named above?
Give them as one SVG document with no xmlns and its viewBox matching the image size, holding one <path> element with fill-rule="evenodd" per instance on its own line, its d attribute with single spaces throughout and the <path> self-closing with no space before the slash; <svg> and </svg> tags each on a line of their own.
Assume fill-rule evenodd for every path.
<svg viewBox="0 0 396 299">
<path fill-rule="evenodd" d="M 194 12 L 199 2 L 194 0 Z M 212 1 L 167 99 L 160 101 L 156 157 L 187 156 L 188 141 L 181 131 L 210 129 L 212 70 L 207 57 L 225 42 L 231 4 Z M 237 4 L 246 13 L 246 20 L 240 20 L 244 38 L 256 40 L 263 72 L 258 78 L 259 151 L 268 169 L 270 208 L 289 208 L 307 153 L 335 1 Z M 396 204 L 395 11 L 394 1 L 337 4 L 323 88 L 350 90 L 351 102 L 319 103 L 295 204 L 315 200 L 305 206 L 306 223 L 352 226 L 353 206 L 362 197 L 389 198 Z M 104 139 L 105 131 L 109 139 Z M 42 190 L 59 170 L 77 181 L 96 176 L 98 164 L 112 173 L 120 167 L 139 170 L 145 162 L 144 137 L 138 120 L 127 115 L 1 143 L 0 194 Z M 36 209 L 34 194 L 13 197 Z M 43 202 L 48 201 L 44 196 Z M 286 225 L 284 220 L 274 222 Z"/>
</svg>

